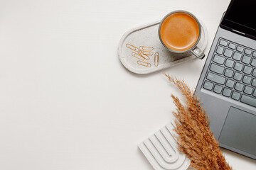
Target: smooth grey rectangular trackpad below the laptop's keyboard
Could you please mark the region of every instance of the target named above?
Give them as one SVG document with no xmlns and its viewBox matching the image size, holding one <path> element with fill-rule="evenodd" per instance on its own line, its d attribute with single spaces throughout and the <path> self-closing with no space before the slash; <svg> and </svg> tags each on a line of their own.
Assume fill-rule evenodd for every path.
<svg viewBox="0 0 256 170">
<path fill-rule="evenodd" d="M 219 142 L 256 155 L 256 116 L 230 107 Z"/>
</svg>

